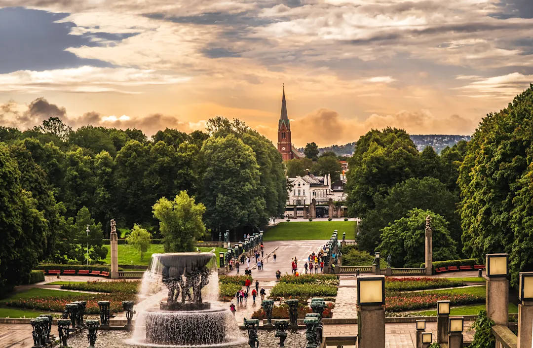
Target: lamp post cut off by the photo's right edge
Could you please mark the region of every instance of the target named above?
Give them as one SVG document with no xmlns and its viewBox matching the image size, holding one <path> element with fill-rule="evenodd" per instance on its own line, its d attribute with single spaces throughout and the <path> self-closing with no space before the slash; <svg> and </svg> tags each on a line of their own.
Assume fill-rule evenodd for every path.
<svg viewBox="0 0 533 348">
<path fill-rule="evenodd" d="M 520 272 L 518 299 L 518 346 L 531 347 L 533 339 L 533 272 Z"/>
</svg>

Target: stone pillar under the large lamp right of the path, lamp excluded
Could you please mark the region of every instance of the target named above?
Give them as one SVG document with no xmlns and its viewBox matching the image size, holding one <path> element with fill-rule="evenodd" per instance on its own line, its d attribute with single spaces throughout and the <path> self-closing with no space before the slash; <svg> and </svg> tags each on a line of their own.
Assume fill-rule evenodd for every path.
<svg viewBox="0 0 533 348">
<path fill-rule="evenodd" d="M 360 306 L 358 314 L 357 346 L 385 348 L 385 310 L 381 305 Z"/>
</svg>

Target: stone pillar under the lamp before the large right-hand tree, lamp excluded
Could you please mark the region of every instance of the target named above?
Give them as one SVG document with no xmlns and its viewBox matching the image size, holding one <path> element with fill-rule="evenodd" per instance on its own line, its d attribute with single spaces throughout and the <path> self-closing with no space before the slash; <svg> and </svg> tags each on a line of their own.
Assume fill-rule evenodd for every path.
<svg viewBox="0 0 533 348">
<path fill-rule="evenodd" d="M 487 277 L 487 317 L 495 324 L 509 324 L 509 281 L 505 277 Z M 531 324 L 530 324 L 531 325 Z"/>
</svg>

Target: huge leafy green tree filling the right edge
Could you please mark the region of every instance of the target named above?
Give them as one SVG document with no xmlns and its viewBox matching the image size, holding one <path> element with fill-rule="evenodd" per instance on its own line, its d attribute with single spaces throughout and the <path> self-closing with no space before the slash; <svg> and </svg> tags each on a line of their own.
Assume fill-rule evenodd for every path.
<svg viewBox="0 0 533 348">
<path fill-rule="evenodd" d="M 463 251 L 509 253 L 512 284 L 518 272 L 533 271 L 533 85 L 506 109 L 483 118 L 466 155 L 457 183 Z"/>
</svg>

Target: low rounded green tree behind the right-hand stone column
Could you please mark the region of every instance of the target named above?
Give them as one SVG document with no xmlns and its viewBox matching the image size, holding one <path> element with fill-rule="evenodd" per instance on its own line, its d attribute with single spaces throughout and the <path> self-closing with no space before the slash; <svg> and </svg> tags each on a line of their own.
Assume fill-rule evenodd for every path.
<svg viewBox="0 0 533 348">
<path fill-rule="evenodd" d="M 377 250 L 391 255 L 394 267 L 419 267 L 424 262 L 426 217 L 431 217 L 433 231 L 433 260 L 456 260 L 457 242 L 451 238 L 448 222 L 431 210 L 412 209 L 407 216 L 383 228 Z"/>
</svg>

